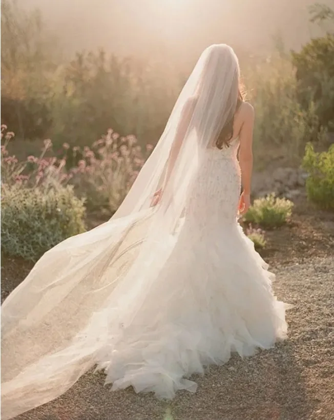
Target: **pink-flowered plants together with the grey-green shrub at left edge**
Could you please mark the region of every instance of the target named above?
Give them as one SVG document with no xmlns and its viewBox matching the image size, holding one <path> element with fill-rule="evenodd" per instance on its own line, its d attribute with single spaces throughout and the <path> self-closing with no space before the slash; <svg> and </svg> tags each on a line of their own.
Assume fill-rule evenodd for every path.
<svg viewBox="0 0 334 420">
<path fill-rule="evenodd" d="M 85 230 L 85 206 L 73 186 L 65 184 L 65 160 L 46 158 L 51 141 L 39 156 L 19 162 L 9 156 L 7 145 L 14 137 L 1 127 L 1 239 L 8 255 L 36 261 L 58 242 Z"/>
</svg>

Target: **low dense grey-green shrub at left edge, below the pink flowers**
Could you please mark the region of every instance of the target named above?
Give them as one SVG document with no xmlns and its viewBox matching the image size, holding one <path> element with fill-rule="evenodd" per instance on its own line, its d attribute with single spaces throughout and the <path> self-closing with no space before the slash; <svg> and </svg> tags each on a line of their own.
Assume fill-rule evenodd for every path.
<svg viewBox="0 0 334 420">
<path fill-rule="evenodd" d="M 26 188 L 2 185 L 2 250 L 36 261 L 62 240 L 85 231 L 83 201 L 70 186 Z"/>
</svg>

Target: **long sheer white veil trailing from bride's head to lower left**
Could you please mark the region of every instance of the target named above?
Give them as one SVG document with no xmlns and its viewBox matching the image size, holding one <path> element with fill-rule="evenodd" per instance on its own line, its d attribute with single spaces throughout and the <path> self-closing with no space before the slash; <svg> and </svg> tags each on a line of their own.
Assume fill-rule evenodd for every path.
<svg viewBox="0 0 334 420">
<path fill-rule="evenodd" d="M 64 393 L 96 364 L 99 352 L 110 347 L 111 326 L 113 331 L 131 327 L 173 249 L 205 149 L 235 110 L 238 78 L 233 50 L 208 47 L 115 215 L 49 250 L 5 300 L 4 420 Z M 181 149 L 166 182 L 181 126 Z M 161 200 L 151 207 L 161 186 Z M 100 316 L 104 308 L 106 318 Z"/>
</svg>

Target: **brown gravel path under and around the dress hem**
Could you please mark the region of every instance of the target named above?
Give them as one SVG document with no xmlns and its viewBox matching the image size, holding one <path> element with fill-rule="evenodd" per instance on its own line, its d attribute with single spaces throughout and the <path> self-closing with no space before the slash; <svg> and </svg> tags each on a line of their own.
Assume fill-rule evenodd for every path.
<svg viewBox="0 0 334 420">
<path fill-rule="evenodd" d="M 65 395 L 16 420 L 334 420 L 334 257 L 275 267 L 289 339 L 198 376 L 172 402 L 132 389 L 110 392 L 88 373 Z"/>
</svg>

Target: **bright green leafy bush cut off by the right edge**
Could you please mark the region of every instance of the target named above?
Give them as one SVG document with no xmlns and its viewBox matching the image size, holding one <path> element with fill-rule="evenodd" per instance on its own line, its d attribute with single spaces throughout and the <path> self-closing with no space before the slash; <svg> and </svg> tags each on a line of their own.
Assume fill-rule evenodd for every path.
<svg viewBox="0 0 334 420">
<path fill-rule="evenodd" d="M 311 144 L 306 145 L 303 167 L 307 197 L 319 207 L 334 210 L 334 144 L 327 152 L 316 153 Z"/>
</svg>

